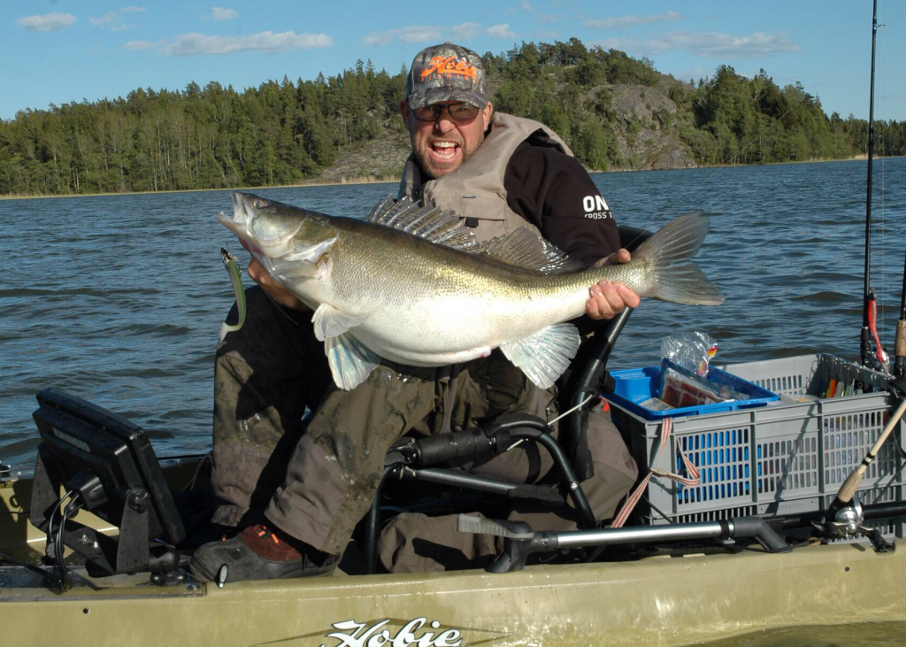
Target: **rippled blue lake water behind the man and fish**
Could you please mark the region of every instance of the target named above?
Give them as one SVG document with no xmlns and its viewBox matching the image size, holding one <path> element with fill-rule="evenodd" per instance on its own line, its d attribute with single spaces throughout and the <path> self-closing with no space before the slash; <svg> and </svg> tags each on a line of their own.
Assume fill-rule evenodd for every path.
<svg viewBox="0 0 906 647">
<path fill-rule="evenodd" d="M 866 163 L 596 174 L 624 224 L 713 215 L 699 265 L 727 302 L 645 302 L 612 367 L 651 365 L 660 341 L 699 330 L 722 362 L 807 352 L 855 358 L 862 323 Z M 906 159 L 875 164 L 873 279 L 892 350 L 906 244 Z M 390 184 L 263 188 L 363 217 Z M 207 450 L 214 347 L 233 302 L 217 224 L 227 191 L 0 201 L 0 462 L 34 464 L 34 394 L 56 386 L 149 430 L 159 455 Z M 244 276 L 246 285 L 251 285 Z"/>
</svg>

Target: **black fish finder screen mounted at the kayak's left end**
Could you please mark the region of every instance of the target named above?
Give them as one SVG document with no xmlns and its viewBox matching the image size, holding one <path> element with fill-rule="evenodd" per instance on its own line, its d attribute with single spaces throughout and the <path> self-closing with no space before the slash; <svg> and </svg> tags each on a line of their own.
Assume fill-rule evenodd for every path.
<svg viewBox="0 0 906 647">
<path fill-rule="evenodd" d="M 178 555 L 168 545 L 186 533 L 145 430 L 59 389 L 44 389 L 37 400 L 34 526 L 50 530 L 52 518 L 61 518 L 61 492 L 70 492 L 81 507 L 119 528 L 116 536 L 67 521 L 63 544 L 84 557 L 91 575 L 175 568 Z"/>
</svg>

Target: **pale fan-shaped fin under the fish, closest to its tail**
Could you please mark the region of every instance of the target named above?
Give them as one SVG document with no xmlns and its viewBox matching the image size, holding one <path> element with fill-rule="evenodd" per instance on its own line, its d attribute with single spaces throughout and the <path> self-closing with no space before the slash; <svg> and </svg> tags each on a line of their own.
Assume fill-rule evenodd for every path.
<svg viewBox="0 0 906 647">
<path fill-rule="evenodd" d="M 566 370 L 579 350 L 579 331 L 572 323 L 556 323 L 522 339 L 500 344 L 506 359 L 529 380 L 547 389 Z"/>
</svg>

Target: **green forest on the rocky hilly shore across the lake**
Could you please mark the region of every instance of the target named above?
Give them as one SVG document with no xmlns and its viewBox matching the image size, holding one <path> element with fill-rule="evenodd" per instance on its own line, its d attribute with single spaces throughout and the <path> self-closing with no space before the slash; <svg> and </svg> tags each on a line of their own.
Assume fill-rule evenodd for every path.
<svg viewBox="0 0 906 647">
<path fill-rule="evenodd" d="M 681 82 L 575 38 L 483 59 L 496 110 L 544 122 L 589 169 L 846 159 L 867 145 L 867 121 L 828 116 L 802 84 L 780 87 L 764 70 L 721 65 Z M 392 176 L 407 154 L 405 84 L 405 69 L 358 61 L 241 92 L 192 82 L 19 111 L 0 121 L 0 195 L 273 186 L 340 179 L 340 168 Z M 875 137 L 877 154 L 906 154 L 906 121 L 876 122 Z"/>
</svg>

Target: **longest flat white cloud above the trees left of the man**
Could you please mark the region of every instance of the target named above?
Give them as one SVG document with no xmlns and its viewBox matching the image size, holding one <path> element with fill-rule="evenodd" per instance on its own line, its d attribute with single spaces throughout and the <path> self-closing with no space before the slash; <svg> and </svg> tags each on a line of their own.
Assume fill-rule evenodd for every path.
<svg viewBox="0 0 906 647">
<path fill-rule="evenodd" d="M 247 36 L 208 36 L 206 34 L 180 34 L 157 43 L 131 41 L 123 45 L 130 52 L 153 50 L 166 56 L 200 56 L 240 52 L 279 53 L 290 50 L 309 50 L 330 47 L 333 38 L 327 34 L 295 34 L 294 32 L 261 32 Z"/>
</svg>

